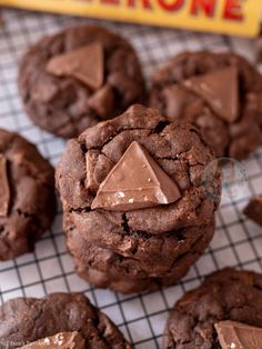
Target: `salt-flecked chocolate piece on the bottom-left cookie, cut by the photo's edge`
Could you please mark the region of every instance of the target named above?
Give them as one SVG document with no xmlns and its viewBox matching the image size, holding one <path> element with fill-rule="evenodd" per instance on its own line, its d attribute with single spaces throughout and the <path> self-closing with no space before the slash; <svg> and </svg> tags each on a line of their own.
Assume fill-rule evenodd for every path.
<svg viewBox="0 0 262 349">
<path fill-rule="evenodd" d="M 60 332 L 51 337 L 39 339 L 32 343 L 20 347 L 20 349 L 38 349 L 38 348 L 50 348 L 50 349 L 84 349 L 85 340 L 77 331 L 74 332 Z"/>
</svg>

